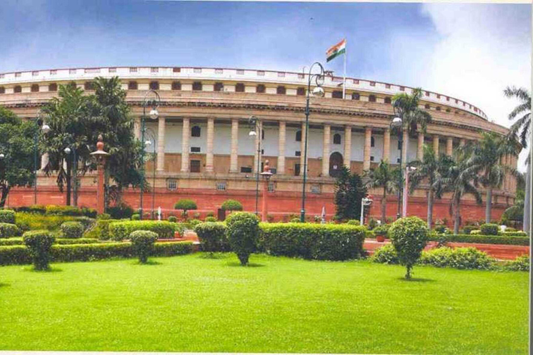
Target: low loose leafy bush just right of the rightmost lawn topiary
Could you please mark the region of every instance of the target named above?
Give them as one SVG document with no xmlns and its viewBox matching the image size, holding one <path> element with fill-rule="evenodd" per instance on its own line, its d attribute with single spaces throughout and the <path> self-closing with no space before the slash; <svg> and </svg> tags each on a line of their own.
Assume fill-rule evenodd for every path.
<svg viewBox="0 0 533 355">
<path fill-rule="evenodd" d="M 494 259 L 476 248 L 436 248 L 423 252 L 420 263 L 437 268 L 490 270 Z"/>
</svg>

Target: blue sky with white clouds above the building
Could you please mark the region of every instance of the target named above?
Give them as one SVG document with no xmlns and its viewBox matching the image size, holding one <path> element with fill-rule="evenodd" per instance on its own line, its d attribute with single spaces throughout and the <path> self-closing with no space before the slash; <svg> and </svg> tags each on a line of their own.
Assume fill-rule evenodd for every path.
<svg viewBox="0 0 533 355">
<path fill-rule="evenodd" d="M 300 71 L 342 38 L 348 76 L 462 98 L 509 125 L 530 86 L 531 6 L 2 0 L 0 72 L 204 66 Z M 327 65 L 340 75 L 342 61 Z"/>
</svg>

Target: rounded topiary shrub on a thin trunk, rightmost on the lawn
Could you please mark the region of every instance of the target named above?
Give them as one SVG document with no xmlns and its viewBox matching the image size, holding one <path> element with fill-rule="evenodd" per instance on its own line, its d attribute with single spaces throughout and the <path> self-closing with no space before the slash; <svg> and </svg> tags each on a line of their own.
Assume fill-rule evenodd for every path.
<svg viewBox="0 0 533 355">
<path fill-rule="evenodd" d="M 398 260 L 407 268 L 406 279 L 411 279 L 411 270 L 428 243 L 428 234 L 426 223 L 418 217 L 400 218 L 389 229 Z"/>
</svg>

